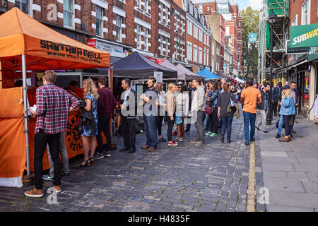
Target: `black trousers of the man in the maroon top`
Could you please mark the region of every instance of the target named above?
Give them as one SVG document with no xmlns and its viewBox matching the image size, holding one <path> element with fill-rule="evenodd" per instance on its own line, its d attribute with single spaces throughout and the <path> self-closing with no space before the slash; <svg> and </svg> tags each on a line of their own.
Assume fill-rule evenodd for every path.
<svg viewBox="0 0 318 226">
<path fill-rule="evenodd" d="M 112 149 L 112 136 L 110 136 L 110 116 L 109 117 L 98 117 L 98 153 L 103 152 L 102 144 L 102 132 L 106 136 L 106 150 Z"/>
</svg>

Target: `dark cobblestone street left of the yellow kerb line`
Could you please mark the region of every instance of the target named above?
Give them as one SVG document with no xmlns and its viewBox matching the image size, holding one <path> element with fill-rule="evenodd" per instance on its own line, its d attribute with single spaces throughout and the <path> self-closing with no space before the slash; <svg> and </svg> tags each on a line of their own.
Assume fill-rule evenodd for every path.
<svg viewBox="0 0 318 226">
<path fill-rule="evenodd" d="M 166 126 L 163 127 L 166 129 Z M 70 160 L 71 175 L 62 178 L 57 205 L 43 198 L 27 198 L 22 189 L 0 187 L 2 211 L 238 211 L 247 210 L 249 149 L 244 124 L 234 119 L 232 143 L 206 136 L 197 148 L 190 141 L 195 128 L 177 147 L 160 143 L 158 151 L 141 150 L 146 135 L 136 137 L 134 154 L 119 153 L 122 137 L 114 137 L 117 150 L 94 165 L 78 168 L 81 157 Z M 166 134 L 165 132 L 163 133 Z M 256 186 L 262 185 L 259 145 L 255 145 Z M 45 182 L 45 191 L 52 182 Z M 265 206 L 257 203 L 256 210 Z"/>
</svg>

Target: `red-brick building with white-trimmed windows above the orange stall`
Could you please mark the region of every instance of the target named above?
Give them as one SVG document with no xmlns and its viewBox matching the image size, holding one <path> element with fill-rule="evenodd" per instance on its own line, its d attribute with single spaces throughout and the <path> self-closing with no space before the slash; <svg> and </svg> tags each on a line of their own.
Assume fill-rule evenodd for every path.
<svg viewBox="0 0 318 226">
<path fill-rule="evenodd" d="M 186 59 L 186 12 L 172 0 L 5 1 L 0 13 L 17 6 L 74 40 L 96 40 L 112 62 L 134 51 L 176 63 Z"/>
</svg>

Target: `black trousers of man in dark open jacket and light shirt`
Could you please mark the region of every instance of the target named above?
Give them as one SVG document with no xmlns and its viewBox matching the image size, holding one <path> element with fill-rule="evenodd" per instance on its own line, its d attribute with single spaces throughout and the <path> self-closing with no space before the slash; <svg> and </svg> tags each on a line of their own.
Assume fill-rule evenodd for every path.
<svg viewBox="0 0 318 226">
<path fill-rule="evenodd" d="M 136 150 L 136 119 L 127 119 L 122 117 L 122 126 L 124 131 L 125 148 L 134 148 Z"/>
</svg>

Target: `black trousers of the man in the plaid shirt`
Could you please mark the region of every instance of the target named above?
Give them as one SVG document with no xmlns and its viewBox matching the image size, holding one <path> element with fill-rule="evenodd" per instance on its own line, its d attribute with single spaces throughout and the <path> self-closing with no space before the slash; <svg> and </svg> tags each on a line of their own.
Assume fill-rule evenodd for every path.
<svg viewBox="0 0 318 226">
<path fill-rule="evenodd" d="M 49 154 L 54 165 L 54 186 L 61 185 L 61 160 L 59 158 L 59 133 L 47 134 L 41 129 L 34 138 L 35 189 L 43 189 L 43 155 L 49 143 Z"/>
</svg>

